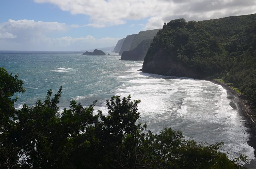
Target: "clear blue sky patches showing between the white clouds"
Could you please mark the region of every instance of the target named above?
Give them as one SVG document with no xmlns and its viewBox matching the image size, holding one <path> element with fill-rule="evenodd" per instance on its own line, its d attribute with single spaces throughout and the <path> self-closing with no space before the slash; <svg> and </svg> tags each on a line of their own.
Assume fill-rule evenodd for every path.
<svg viewBox="0 0 256 169">
<path fill-rule="evenodd" d="M 70 14 L 69 11 L 63 11 L 57 6 L 50 3 L 35 3 L 33 0 L 6 0 L 1 2 L 0 23 L 12 20 L 34 20 L 44 22 L 59 22 L 67 25 L 77 24 L 85 25 L 90 22 L 90 17 L 84 14 Z M 108 11 L 111 12 L 111 11 Z M 105 27 L 103 29 L 95 29 L 94 27 L 82 27 L 75 30 L 63 32 L 62 35 L 78 38 L 81 36 L 92 35 L 95 38 L 113 37 L 124 38 L 129 34 L 136 34 L 143 30 L 147 18 L 142 20 L 127 20 L 126 24 L 113 27 Z M 134 24 L 133 27 L 129 27 Z M 113 29 L 115 31 L 113 31 Z M 124 31 L 125 30 L 125 31 Z M 54 37 L 54 36 L 53 36 Z"/>
</svg>

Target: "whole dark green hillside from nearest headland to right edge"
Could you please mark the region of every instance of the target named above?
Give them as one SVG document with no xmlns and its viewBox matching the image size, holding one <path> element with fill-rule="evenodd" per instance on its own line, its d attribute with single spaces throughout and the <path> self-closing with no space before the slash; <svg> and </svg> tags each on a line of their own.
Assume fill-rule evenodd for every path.
<svg viewBox="0 0 256 169">
<path fill-rule="evenodd" d="M 255 21 L 256 14 L 200 22 L 172 20 L 155 36 L 142 70 L 177 76 L 175 67 L 168 65 L 181 64 L 186 69 L 182 76 L 218 77 L 256 104 Z M 152 69 L 151 63 L 158 64 Z"/>
</svg>

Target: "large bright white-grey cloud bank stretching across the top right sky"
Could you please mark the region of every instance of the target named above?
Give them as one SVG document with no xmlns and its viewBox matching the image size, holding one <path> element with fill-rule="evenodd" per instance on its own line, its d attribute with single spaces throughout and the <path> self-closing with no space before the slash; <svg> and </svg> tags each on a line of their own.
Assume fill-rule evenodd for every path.
<svg viewBox="0 0 256 169">
<path fill-rule="evenodd" d="M 205 20 L 256 13 L 255 0 L 34 0 L 51 3 L 71 14 L 90 16 L 91 25 L 125 24 L 126 20 L 149 18 L 145 29 L 159 28 L 162 22 L 182 16 Z M 156 19 L 159 20 L 156 20 Z M 156 25 L 154 25 L 156 24 Z M 162 27 L 162 26 L 161 26 Z"/>
</svg>

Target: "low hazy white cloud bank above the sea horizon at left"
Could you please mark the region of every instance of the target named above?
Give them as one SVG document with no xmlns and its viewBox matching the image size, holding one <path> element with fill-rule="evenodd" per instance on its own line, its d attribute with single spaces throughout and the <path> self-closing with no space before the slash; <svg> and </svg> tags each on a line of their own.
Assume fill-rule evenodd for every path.
<svg viewBox="0 0 256 169">
<path fill-rule="evenodd" d="M 89 26 L 89 25 L 87 25 Z M 0 50 L 83 50 L 95 47 L 115 46 L 121 38 L 101 38 L 93 36 L 72 38 L 64 36 L 50 38 L 48 34 L 81 27 L 58 22 L 34 20 L 8 20 L 0 23 Z"/>
</svg>

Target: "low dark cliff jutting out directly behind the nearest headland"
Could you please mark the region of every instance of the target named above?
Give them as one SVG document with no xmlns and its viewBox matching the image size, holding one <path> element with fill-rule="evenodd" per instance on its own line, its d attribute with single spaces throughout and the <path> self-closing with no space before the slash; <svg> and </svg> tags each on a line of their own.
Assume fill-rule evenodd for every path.
<svg viewBox="0 0 256 169">
<path fill-rule="evenodd" d="M 153 39 L 143 40 L 136 48 L 124 51 L 121 60 L 144 60 Z"/>
</svg>

